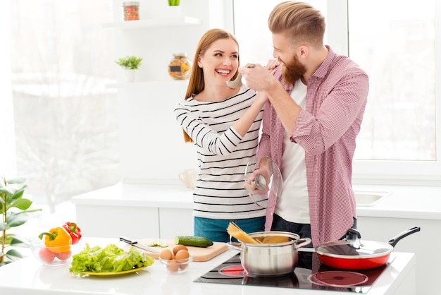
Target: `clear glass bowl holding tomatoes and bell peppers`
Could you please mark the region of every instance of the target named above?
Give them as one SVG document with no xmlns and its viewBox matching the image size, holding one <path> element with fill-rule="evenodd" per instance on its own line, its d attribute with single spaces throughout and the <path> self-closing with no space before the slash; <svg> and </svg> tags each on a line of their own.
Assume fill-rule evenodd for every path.
<svg viewBox="0 0 441 295">
<path fill-rule="evenodd" d="M 44 241 L 34 240 L 30 242 L 30 250 L 39 262 L 44 265 L 58 266 L 66 265 L 72 261 L 72 256 L 80 253 L 82 241 L 73 245 L 46 247 Z"/>
</svg>

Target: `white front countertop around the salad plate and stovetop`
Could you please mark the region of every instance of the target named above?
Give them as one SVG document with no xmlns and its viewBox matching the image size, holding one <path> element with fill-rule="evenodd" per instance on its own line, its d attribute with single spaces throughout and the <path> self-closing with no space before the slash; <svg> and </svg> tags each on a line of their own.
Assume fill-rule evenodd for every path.
<svg viewBox="0 0 441 295">
<path fill-rule="evenodd" d="M 124 246 L 117 239 L 84 238 L 91 246 L 106 246 L 115 243 Z M 258 287 L 232 284 L 193 282 L 201 275 L 228 258 L 237 254 L 235 250 L 218 255 L 207 261 L 192 263 L 187 272 L 180 275 L 166 274 L 159 261 L 144 270 L 128 275 L 113 277 L 75 277 L 68 271 L 70 265 L 49 267 L 34 257 L 27 257 L 0 267 L 0 294 L 8 295 L 96 295 L 96 294 L 292 294 L 290 288 Z M 392 263 L 375 280 L 368 295 L 416 294 L 415 265 L 413 253 L 392 252 Z M 392 260 L 392 259 L 390 259 Z M 271 289 L 268 289 L 271 288 Z M 352 294 L 350 292 L 295 289 L 295 294 Z"/>
</svg>

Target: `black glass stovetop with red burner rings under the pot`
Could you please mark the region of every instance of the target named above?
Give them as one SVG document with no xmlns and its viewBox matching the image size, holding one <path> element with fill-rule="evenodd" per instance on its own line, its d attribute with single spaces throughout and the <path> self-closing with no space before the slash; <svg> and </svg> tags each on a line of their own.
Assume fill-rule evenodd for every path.
<svg viewBox="0 0 441 295">
<path fill-rule="evenodd" d="M 315 252 L 299 251 L 299 263 L 294 272 L 278 277 L 249 277 L 240 264 L 240 253 L 214 267 L 194 282 L 240 284 L 292 289 L 319 289 L 366 294 L 375 279 L 385 270 L 337 270 L 321 264 Z"/>
</svg>

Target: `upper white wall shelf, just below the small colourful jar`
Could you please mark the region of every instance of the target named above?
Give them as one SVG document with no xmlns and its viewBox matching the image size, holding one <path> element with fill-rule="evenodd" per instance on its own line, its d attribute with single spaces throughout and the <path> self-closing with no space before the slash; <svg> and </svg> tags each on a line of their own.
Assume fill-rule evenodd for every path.
<svg viewBox="0 0 441 295">
<path fill-rule="evenodd" d="M 172 28 L 185 25 L 199 25 L 199 18 L 190 16 L 178 16 L 175 18 L 150 18 L 145 20 L 121 21 L 118 23 L 104 23 L 103 28 L 114 28 L 120 30 L 139 30 L 149 28 Z"/>
</svg>

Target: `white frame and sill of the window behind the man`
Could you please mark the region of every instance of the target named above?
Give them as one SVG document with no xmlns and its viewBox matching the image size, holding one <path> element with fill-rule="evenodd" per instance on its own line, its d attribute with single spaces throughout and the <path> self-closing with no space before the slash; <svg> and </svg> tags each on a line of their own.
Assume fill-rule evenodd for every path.
<svg viewBox="0 0 441 295">
<path fill-rule="evenodd" d="M 346 55 L 349 52 L 348 1 L 326 0 L 326 43 L 330 44 L 334 52 Z M 232 0 L 232 9 L 234 16 L 234 0 Z M 435 1 L 435 16 L 441 16 L 440 1 Z M 437 46 L 441 40 L 441 21 L 436 20 L 437 17 L 435 17 L 435 77 L 441 77 L 441 46 Z M 232 21 L 234 28 L 234 18 Z M 441 132 L 440 102 L 441 83 L 435 83 L 436 134 Z M 441 136 L 436 136 L 435 143 L 436 155 L 441 155 Z M 352 181 L 354 184 L 441 186 L 441 159 L 440 157 L 436 157 L 434 161 L 354 159 Z"/>
</svg>

